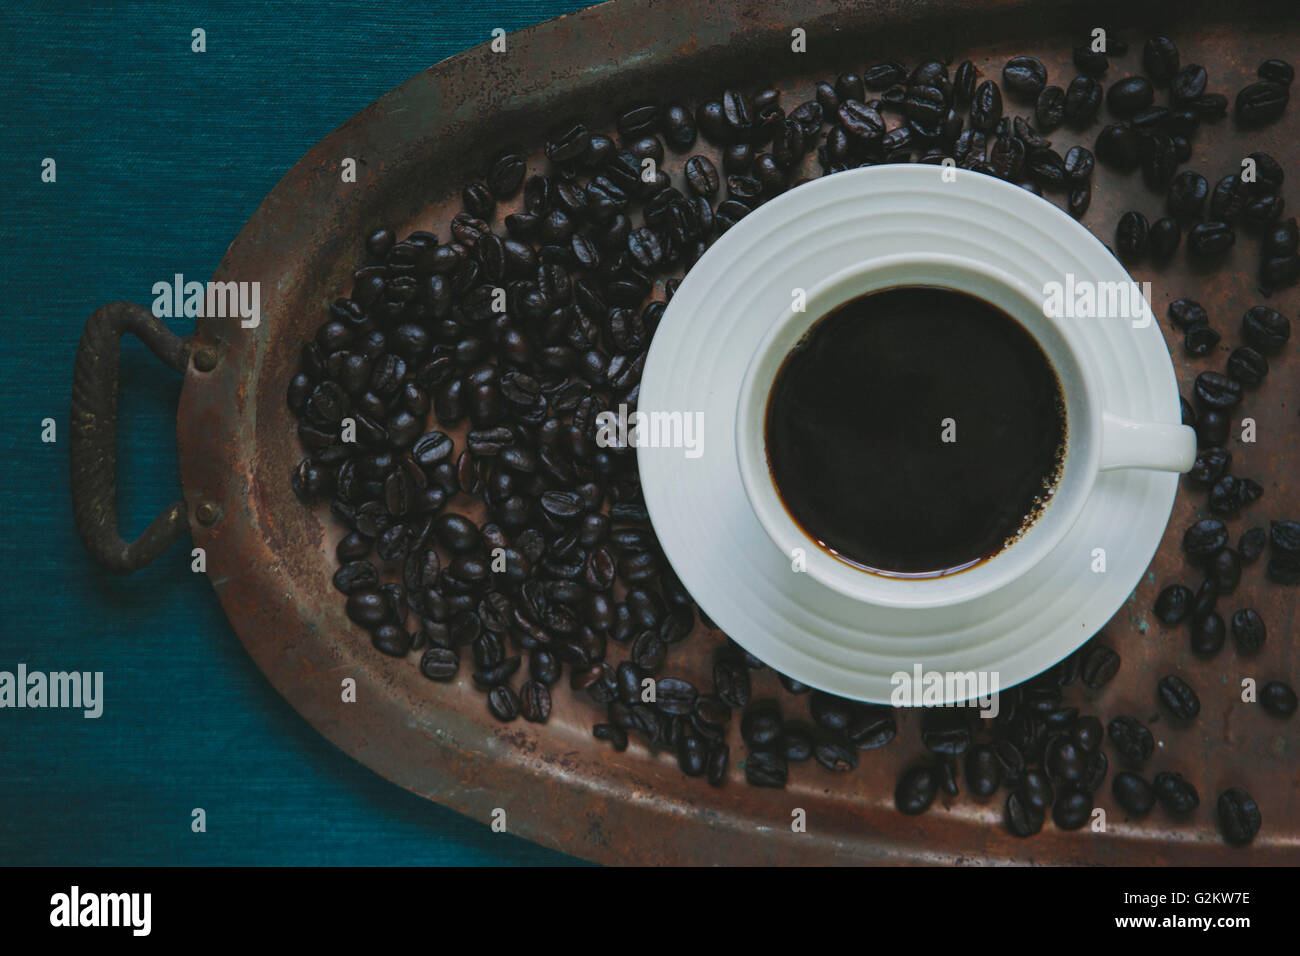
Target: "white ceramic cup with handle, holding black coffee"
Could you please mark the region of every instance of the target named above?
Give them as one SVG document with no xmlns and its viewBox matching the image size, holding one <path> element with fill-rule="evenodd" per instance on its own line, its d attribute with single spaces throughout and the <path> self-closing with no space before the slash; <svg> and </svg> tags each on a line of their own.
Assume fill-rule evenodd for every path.
<svg viewBox="0 0 1300 956">
<path fill-rule="evenodd" d="M 936 578 L 872 574 L 823 550 L 790 518 L 772 483 L 764 424 L 768 394 L 786 355 L 822 317 L 867 293 L 896 286 L 954 289 L 989 302 L 1035 338 L 1061 381 L 1066 401 L 1066 449 L 1061 476 L 1037 518 L 985 561 Z M 1149 311 L 1149 310 L 1148 310 Z M 759 524 L 792 561 L 802 554 L 815 580 L 857 601 L 888 607 L 939 607 L 970 601 L 1015 580 L 1041 562 L 1074 525 L 1097 473 L 1115 468 L 1187 471 L 1196 460 L 1196 433 L 1180 423 L 1132 421 L 1106 410 L 1097 373 L 1087 364 L 1071 323 L 1121 319 L 1057 319 L 1043 294 L 1011 276 L 950 255 L 872 259 L 836 273 L 809 291 L 803 311 L 788 307 L 763 337 L 741 384 L 736 450 L 741 481 Z"/>
</svg>

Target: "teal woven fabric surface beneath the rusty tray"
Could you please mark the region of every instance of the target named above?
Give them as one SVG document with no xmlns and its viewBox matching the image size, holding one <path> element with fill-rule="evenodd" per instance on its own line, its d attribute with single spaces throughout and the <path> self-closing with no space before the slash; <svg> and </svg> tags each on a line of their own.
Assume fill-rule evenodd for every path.
<svg viewBox="0 0 1300 956">
<path fill-rule="evenodd" d="M 188 538 L 126 579 L 72 520 L 73 355 L 96 307 L 205 281 L 283 173 L 421 69 L 581 0 L 0 5 L 0 670 L 104 671 L 104 715 L 0 710 L 0 864 L 576 862 L 421 800 L 261 676 Z M 207 31 L 207 52 L 190 31 Z M 40 181 L 42 160 L 57 182 Z M 188 320 L 173 323 L 190 332 Z M 134 537 L 179 493 L 179 378 L 124 339 Z M 57 441 L 40 441 L 40 423 Z M 192 808 L 207 832 L 190 830 Z"/>
</svg>

